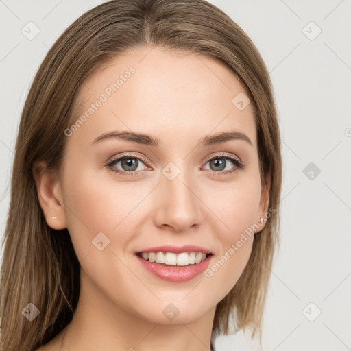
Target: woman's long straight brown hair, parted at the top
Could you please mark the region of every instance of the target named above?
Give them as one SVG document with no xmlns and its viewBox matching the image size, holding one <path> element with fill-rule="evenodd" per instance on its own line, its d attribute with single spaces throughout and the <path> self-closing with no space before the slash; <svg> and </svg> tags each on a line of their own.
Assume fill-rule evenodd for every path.
<svg viewBox="0 0 351 351">
<path fill-rule="evenodd" d="M 263 186 L 270 174 L 269 208 L 275 214 L 254 237 L 252 254 L 237 284 L 217 304 L 213 337 L 259 331 L 270 268 L 278 244 L 282 179 L 280 132 L 266 66 L 247 34 L 204 0 L 113 0 L 89 10 L 58 38 L 40 65 L 21 115 L 3 237 L 0 350 L 35 350 L 71 322 L 80 292 L 80 263 L 67 229 L 53 230 L 38 202 L 32 167 L 45 160 L 60 171 L 77 89 L 103 64 L 143 45 L 182 49 L 216 58 L 238 77 L 256 121 Z M 23 308 L 34 304 L 32 321 Z"/>
</svg>

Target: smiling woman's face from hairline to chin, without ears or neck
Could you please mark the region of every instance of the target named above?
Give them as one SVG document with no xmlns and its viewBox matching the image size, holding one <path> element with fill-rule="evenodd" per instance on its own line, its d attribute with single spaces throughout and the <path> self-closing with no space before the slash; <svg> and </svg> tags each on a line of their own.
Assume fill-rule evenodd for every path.
<svg viewBox="0 0 351 351">
<path fill-rule="evenodd" d="M 82 85 L 65 131 L 58 217 L 81 263 L 81 295 L 177 324 L 214 313 L 234 287 L 252 251 L 245 230 L 266 208 L 254 114 L 236 75 L 206 56 L 150 49 L 119 56 Z M 250 142 L 202 143 L 228 132 Z M 176 248 L 211 255 L 198 269 L 181 259 L 147 268 L 136 254 L 164 245 L 169 263 Z M 169 312 L 179 313 L 174 322 Z"/>
</svg>

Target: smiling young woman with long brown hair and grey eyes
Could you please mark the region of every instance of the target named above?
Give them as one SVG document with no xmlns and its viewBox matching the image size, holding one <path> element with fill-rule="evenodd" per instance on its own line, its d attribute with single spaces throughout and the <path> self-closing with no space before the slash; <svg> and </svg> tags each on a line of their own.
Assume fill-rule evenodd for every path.
<svg viewBox="0 0 351 351">
<path fill-rule="evenodd" d="M 202 0 L 116 0 L 51 47 L 23 108 L 1 350 L 214 350 L 259 333 L 282 178 L 271 81 Z"/>
</svg>

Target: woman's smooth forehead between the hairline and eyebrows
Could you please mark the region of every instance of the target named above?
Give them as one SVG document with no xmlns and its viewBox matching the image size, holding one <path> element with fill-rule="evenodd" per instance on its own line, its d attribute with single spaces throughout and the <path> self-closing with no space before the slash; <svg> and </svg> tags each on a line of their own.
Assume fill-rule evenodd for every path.
<svg viewBox="0 0 351 351">
<path fill-rule="evenodd" d="M 238 108 L 238 99 L 247 103 L 243 86 L 218 60 L 141 47 L 110 60 L 82 84 L 72 123 L 86 118 L 73 134 L 90 142 L 123 130 L 156 136 L 164 145 L 165 136 L 179 142 L 237 130 L 256 145 L 252 106 Z"/>
</svg>

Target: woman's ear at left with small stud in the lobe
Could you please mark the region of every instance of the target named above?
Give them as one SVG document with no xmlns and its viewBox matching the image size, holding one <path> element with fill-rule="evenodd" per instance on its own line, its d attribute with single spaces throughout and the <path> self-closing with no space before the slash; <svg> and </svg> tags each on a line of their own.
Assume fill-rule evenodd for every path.
<svg viewBox="0 0 351 351">
<path fill-rule="evenodd" d="M 33 176 L 36 191 L 47 225 L 60 230 L 67 228 L 60 182 L 56 173 L 48 171 L 46 165 L 45 161 L 34 162 Z"/>
</svg>

